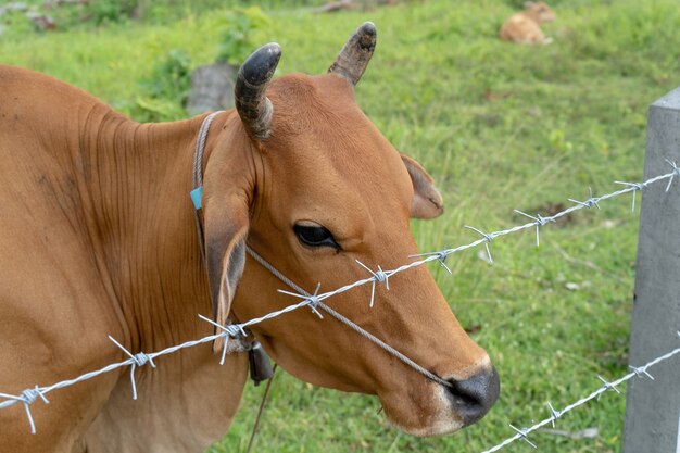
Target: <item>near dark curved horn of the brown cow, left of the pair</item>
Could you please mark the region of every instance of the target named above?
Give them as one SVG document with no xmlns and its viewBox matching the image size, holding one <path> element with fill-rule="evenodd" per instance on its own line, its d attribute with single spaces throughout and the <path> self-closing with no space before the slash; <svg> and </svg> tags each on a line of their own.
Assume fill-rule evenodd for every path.
<svg viewBox="0 0 680 453">
<path fill-rule="evenodd" d="M 267 99 L 267 85 L 281 58 L 281 47 L 269 42 L 254 51 L 241 65 L 234 98 L 245 131 L 255 140 L 269 136 L 274 108 Z"/>
</svg>

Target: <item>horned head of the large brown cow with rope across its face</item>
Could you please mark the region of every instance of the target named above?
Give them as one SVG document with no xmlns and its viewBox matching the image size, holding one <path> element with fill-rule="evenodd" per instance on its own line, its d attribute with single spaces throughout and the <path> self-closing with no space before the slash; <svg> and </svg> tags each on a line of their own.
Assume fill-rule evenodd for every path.
<svg viewBox="0 0 680 453">
<path fill-rule="evenodd" d="M 261 48 L 242 65 L 237 112 L 209 150 L 205 168 L 205 247 L 221 323 L 230 310 L 245 320 L 297 302 L 275 291 L 282 284 L 260 264 L 247 263 L 245 241 L 306 290 L 317 282 L 332 290 L 369 277 L 357 260 L 373 269 L 407 262 L 417 253 L 410 219 L 442 213 L 432 178 L 399 153 L 354 101 L 375 40 L 374 25 L 362 25 L 319 76 L 270 81 L 278 45 Z M 253 330 L 294 376 L 377 394 L 389 420 L 410 433 L 450 433 L 481 418 L 499 394 L 487 353 L 461 327 L 425 266 L 389 285 L 376 288 L 373 307 L 370 285 L 326 303 L 452 387 L 308 309 Z"/>
</svg>

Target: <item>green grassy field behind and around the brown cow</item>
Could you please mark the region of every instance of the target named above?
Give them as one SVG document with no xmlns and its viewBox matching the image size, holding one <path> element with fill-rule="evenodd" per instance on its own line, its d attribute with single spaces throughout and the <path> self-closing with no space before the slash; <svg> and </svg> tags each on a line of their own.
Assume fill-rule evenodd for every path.
<svg viewBox="0 0 680 453">
<path fill-rule="evenodd" d="M 604 193 L 615 190 L 615 179 L 640 180 L 647 105 L 680 85 L 677 0 L 556 2 L 557 21 L 544 27 L 554 43 L 546 47 L 498 40 L 515 1 L 427 0 L 327 15 L 282 3 L 265 8 L 272 26 L 254 36 L 281 43 L 280 74 L 326 71 L 360 23 L 376 23 L 378 47 L 357 100 L 439 181 L 446 213 L 413 224 L 424 251 L 477 239 L 463 225 L 509 227 L 525 223 L 513 209 L 545 214 L 568 206 L 567 198 L 587 198 L 589 186 Z M 52 74 L 143 118 L 158 61 L 179 49 L 198 65 L 217 51 L 224 11 L 168 4 L 141 23 L 8 32 L 0 62 Z M 163 119 L 180 115 L 179 108 L 160 112 Z M 431 266 L 501 375 L 501 398 L 478 425 L 448 438 L 412 438 L 387 426 L 375 399 L 279 372 L 256 450 L 478 452 L 512 436 L 508 423 L 549 416 L 546 401 L 563 407 L 596 389 L 597 374 L 622 375 L 637 228 L 626 197 L 543 228 L 540 249 L 531 231 L 494 241 L 492 266 L 476 251 L 448 261 L 453 277 Z M 211 453 L 244 449 L 261 393 L 248 386 L 232 429 Z M 532 440 L 546 453 L 618 452 L 624 411 L 625 398 L 606 394 L 558 424 L 596 427 L 596 439 Z"/>
</svg>

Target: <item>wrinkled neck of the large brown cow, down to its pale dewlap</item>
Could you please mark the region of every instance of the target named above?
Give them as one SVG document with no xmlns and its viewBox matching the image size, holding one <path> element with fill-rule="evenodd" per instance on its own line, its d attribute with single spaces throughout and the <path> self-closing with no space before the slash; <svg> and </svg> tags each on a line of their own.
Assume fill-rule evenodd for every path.
<svg viewBox="0 0 680 453">
<path fill-rule="evenodd" d="M 231 116 L 213 122 L 204 164 Z M 212 316 L 212 307 L 189 198 L 203 117 L 141 125 L 95 105 L 80 119 L 86 142 L 74 160 L 83 168 L 79 185 L 87 188 L 81 193 L 88 228 L 126 332 L 118 340 L 133 352 L 213 334 L 198 318 Z M 155 369 L 136 370 L 137 401 L 128 369 L 121 372 L 83 437 L 83 451 L 201 452 L 227 432 L 245 385 L 247 354 L 230 354 L 219 366 L 211 345 L 203 344 L 155 363 Z"/>
</svg>

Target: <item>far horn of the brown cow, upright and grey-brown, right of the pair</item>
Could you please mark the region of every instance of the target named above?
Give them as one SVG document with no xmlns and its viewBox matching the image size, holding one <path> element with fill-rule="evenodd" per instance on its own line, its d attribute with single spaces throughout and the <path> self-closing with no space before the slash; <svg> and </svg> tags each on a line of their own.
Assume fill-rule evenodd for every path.
<svg viewBox="0 0 680 453">
<path fill-rule="evenodd" d="M 356 85 L 373 56 L 376 36 L 376 26 L 373 22 L 364 22 L 347 41 L 328 72 Z"/>
</svg>

